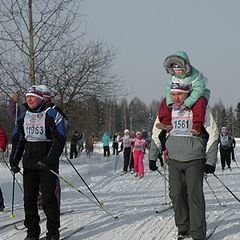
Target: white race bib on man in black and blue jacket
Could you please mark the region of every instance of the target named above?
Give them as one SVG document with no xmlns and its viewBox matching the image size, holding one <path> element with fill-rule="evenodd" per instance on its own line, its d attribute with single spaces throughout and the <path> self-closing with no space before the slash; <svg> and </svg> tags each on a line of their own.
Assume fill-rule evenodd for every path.
<svg viewBox="0 0 240 240">
<path fill-rule="evenodd" d="M 25 139 L 28 142 L 51 141 L 46 138 L 45 119 L 47 110 L 40 113 L 26 112 L 23 125 Z"/>
</svg>

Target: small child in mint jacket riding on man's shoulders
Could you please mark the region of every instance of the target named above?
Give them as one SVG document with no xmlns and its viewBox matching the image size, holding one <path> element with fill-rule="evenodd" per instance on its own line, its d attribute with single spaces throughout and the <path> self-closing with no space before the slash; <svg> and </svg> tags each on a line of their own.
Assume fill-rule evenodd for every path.
<svg viewBox="0 0 240 240">
<path fill-rule="evenodd" d="M 186 89 L 185 91 L 188 92 L 190 89 L 191 94 L 184 100 L 180 110 L 191 108 L 193 113 L 191 132 L 193 135 L 199 135 L 201 125 L 205 121 L 206 107 L 210 98 L 210 90 L 206 88 L 207 78 L 190 64 L 188 55 L 183 51 L 177 51 L 174 55 L 168 56 L 164 61 L 164 67 L 170 74 L 166 87 L 167 106 L 178 107 L 171 99 L 171 89 L 177 88 L 179 85 L 181 85 L 182 91 Z M 165 112 L 160 108 L 159 120 L 162 123 L 161 128 L 166 130 L 172 128 L 171 116 L 168 111 Z"/>
</svg>

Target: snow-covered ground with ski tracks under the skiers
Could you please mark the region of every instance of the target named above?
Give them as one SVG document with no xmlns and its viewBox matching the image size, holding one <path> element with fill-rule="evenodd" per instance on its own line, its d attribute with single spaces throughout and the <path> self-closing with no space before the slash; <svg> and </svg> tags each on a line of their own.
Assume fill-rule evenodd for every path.
<svg viewBox="0 0 240 240">
<path fill-rule="evenodd" d="M 237 140 L 236 155 L 238 164 L 232 162 L 232 171 L 221 171 L 220 162 L 217 164 L 216 175 L 226 186 L 240 198 L 240 139 Z M 103 202 L 104 211 L 91 195 L 83 181 L 63 157 L 60 165 L 60 175 L 80 189 L 77 192 L 64 182 L 61 182 L 62 201 L 61 237 L 63 239 L 88 240 L 160 240 L 176 239 L 177 229 L 174 225 L 173 210 L 156 214 L 156 210 L 168 207 L 169 197 L 165 195 L 164 180 L 158 172 L 148 169 L 148 152 L 145 154 L 145 177 L 139 179 L 130 173 L 120 176 L 123 165 L 122 153 L 119 155 L 117 171 L 114 172 L 116 156 L 109 160 L 102 156 L 101 144 L 95 146 L 93 155 L 88 158 L 82 153 L 72 162 L 81 176 L 88 183 L 99 201 Z M 239 157 L 239 159 L 238 159 Z M 238 165 L 238 166 L 237 166 Z M 160 168 L 159 168 L 160 169 Z M 163 170 L 160 169 L 162 172 Z M 22 176 L 17 174 L 18 182 Z M 208 232 L 215 229 L 211 240 L 240 239 L 240 202 L 212 175 L 208 182 L 216 197 L 204 182 L 206 198 L 206 216 Z M 15 186 L 14 218 L 10 219 L 12 176 L 9 170 L 0 165 L 0 182 L 4 194 L 6 212 L 0 214 L 0 239 L 22 240 L 26 230 L 16 230 L 13 225 L 6 224 L 21 220 L 24 217 L 23 194 L 18 185 Z M 71 211 L 74 210 L 74 211 Z M 44 213 L 40 212 L 41 219 Z M 118 217 L 118 219 L 114 219 Z M 46 221 L 42 220 L 42 236 L 44 236 Z M 20 229 L 23 223 L 16 224 Z M 70 238 L 64 238 L 67 232 L 81 231 Z"/>
</svg>

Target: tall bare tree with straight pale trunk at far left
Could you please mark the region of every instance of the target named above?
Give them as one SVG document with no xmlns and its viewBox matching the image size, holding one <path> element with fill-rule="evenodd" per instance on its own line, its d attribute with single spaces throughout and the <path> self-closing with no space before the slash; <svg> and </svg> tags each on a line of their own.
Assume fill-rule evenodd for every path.
<svg viewBox="0 0 240 240">
<path fill-rule="evenodd" d="M 75 30 L 80 2 L 0 0 L 0 70 L 5 91 L 35 84 L 36 72 Z"/>
</svg>

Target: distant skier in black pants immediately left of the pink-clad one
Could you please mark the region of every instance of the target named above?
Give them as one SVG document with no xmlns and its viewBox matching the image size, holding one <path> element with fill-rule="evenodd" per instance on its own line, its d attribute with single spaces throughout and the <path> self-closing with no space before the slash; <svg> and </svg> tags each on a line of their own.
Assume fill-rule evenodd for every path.
<svg viewBox="0 0 240 240">
<path fill-rule="evenodd" d="M 122 151 L 123 151 L 123 174 L 126 174 L 129 167 L 129 172 L 133 173 L 133 165 L 131 165 L 131 158 L 132 158 L 132 148 L 131 148 L 131 142 L 132 139 L 130 138 L 130 132 L 128 129 L 124 130 L 124 136 L 119 140 L 122 145 Z"/>
</svg>

